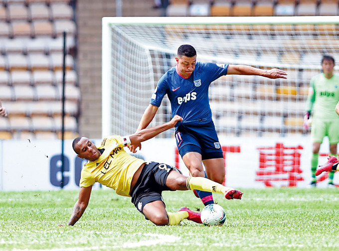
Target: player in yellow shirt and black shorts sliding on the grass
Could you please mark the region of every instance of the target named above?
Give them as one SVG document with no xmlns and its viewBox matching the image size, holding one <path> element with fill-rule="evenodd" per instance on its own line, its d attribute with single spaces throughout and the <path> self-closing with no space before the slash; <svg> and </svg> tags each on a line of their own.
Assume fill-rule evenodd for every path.
<svg viewBox="0 0 339 251">
<path fill-rule="evenodd" d="M 86 137 L 77 137 L 73 149 L 88 163 L 83 167 L 80 178 L 80 193 L 68 225 L 73 226 L 83 215 L 91 195 L 92 185 L 99 182 L 113 188 L 117 194 L 132 198 L 132 203 L 145 218 L 159 226 L 177 225 L 183 219 L 201 223 L 200 213 L 186 207 L 179 212 L 166 211 L 162 191 L 192 190 L 224 194 L 226 199 L 241 199 L 242 192 L 225 187 L 203 177 L 187 177 L 170 165 L 157 162 L 147 163 L 124 150 L 124 146 L 141 148 L 141 142 L 174 127 L 181 121 L 178 115 L 163 125 L 143 129 L 129 136 L 109 136 L 98 148 Z M 62 225 L 61 225 L 62 226 Z"/>
</svg>

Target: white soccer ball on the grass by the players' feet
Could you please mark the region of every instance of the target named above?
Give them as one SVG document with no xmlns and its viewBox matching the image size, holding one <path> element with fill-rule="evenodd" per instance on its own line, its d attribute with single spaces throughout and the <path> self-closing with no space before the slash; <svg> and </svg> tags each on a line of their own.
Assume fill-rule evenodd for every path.
<svg viewBox="0 0 339 251">
<path fill-rule="evenodd" d="M 201 221 L 205 226 L 221 226 L 225 223 L 225 210 L 217 204 L 209 204 L 201 211 Z"/>
</svg>

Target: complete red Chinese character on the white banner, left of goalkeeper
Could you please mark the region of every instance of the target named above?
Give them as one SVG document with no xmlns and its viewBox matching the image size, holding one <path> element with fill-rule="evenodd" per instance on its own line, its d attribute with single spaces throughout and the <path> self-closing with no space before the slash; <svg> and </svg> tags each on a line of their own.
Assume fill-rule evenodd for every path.
<svg viewBox="0 0 339 251">
<path fill-rule="evenodd" d="M 298 181 L 303 181 L 300 168 L 301 145 L 285 147 L 276 143 L 275 147 L 258 147 L 259 170 L 256 171 L 255 181 L 260 181 L 267 187 L 276 184 L 295 187 Z"/>
</svg>

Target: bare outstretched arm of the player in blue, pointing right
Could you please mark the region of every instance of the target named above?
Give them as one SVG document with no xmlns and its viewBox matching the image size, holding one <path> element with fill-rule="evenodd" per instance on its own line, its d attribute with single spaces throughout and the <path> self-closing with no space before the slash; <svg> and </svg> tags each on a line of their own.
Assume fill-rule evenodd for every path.
<svg viewBox="0 0 339 251">
<path fill-rule="evenodd" d="M 230 75 L 258 75 L 270 79 L 287 78 L 287 73 L 283 70 L 273 68 L 262 70 L 248 65 L 228 65 L 227 74 Z"/>
</svg>

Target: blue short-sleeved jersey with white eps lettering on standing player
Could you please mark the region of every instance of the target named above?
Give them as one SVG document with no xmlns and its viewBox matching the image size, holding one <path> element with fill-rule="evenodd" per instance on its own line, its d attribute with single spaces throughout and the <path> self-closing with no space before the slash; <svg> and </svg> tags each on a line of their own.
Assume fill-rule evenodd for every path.
<svg viewBox="0 0 339 251">
<path fill-rule="evenodd" d="M 196 62 L 192 75 L 184 79 L 177 74 L 175 67 L 172 67 L 159 80 L 150 104 L 160 107 L 167 94 L 172 117 L 179 115 L 182 124 L 209 123 L 212 121 L 212 112 L 209 107 L 208 87 L 211 82 L 226 75 L 227 68 L 228 64 Z"/>
</svg>

